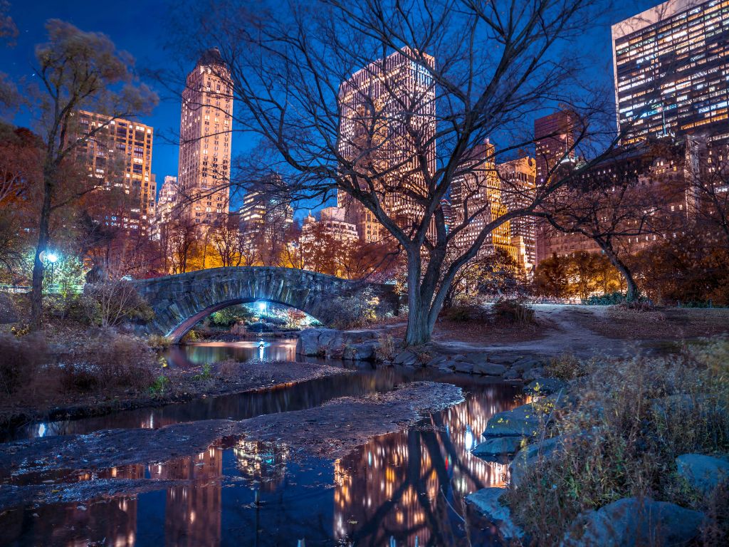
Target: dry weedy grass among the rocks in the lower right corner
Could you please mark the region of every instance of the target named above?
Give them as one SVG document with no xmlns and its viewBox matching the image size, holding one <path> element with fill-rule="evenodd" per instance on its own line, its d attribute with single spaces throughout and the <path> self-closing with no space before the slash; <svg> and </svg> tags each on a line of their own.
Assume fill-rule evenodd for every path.
<svg viewBox="0 0 729 547">
<path fill-rule="evenodd" d="M 729 340 L 673 357 L 593 360 L 574 380 L 577 403 L 548 435 L 564 435 L 558 457 L 542 459 L 509 503 L 538 545 L 555 545 L 581 511 L 623 497 L 651 497 L 706 511 L 706 545 L 722 545 L 727 511 L 679 481 L 675 458 L 729 451 Z M 564 367 L 566 368 L 566 367 Z M 711 521 L 714 518 L 714 521 Z"/>
</svg>

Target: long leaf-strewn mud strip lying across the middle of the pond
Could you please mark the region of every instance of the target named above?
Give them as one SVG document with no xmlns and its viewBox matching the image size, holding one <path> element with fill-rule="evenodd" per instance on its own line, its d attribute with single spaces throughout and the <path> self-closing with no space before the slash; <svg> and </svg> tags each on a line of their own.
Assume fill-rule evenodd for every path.
<svg viewBox="0 0 729 547">
<path fill-rule="evenodd" d="M 158 430 L 106 430 L 90 435 L 58 435 L 0 446 L 0 470 L 6 484 L 28 473 L 98 470 L 166 462 L 203 451 L 224 437 L 279 441 L 295 450 L 340 457 L 375 435 L 394 432 L 463 400 L 459 387 L 413 382 L 386 394 L 341 397 L 316 408 L 269 414 L 235 422 L 206 420 Z M 3 486 L 4 487 L 4 486 Z"/>
</svg>

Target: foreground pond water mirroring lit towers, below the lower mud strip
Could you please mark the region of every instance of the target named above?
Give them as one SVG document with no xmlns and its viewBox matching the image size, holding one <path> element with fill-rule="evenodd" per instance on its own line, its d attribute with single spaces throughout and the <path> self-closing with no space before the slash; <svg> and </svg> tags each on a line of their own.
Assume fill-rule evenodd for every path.
<svg viewBox="0 0 729 547">
<path fill-rule="evenodd" d="M 378 371 L 375 383 L 387 373 Z M 462 381 L 470 384 L 464 403 L 373 438 L 334 462 L 297 454 L 285 442 L 235 438 L 169 462 L 81 471 L 78 481 L 179 483 L 100 503 L 9 511 L 0 516 L 0 543 L 293 546 L 305 539 L 307 545 L 381 547 L 391 538 L 415 546 L 417 538 L 420 546 L 465 546 L 467 530 L 456 515 L 464 513 L 463 495 L 501 485 L 506 473 L 469 448 L 492 414 L 518 404 L 518 390 Z M 480 527 L 469 535 L 474 545 L 494 541 Z"/>
</svg>

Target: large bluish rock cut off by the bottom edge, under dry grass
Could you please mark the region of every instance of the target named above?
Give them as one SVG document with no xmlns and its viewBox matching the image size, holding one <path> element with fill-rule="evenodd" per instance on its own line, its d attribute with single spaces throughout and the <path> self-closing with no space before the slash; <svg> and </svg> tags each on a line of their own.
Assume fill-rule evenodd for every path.
<svg viewBox="0 0 729 547">
<path fill-rule="evenodd" d="M 625 497 L 580 513 L 561 547 L 682 546 L 694 540 L 703 513 L 673 503 Z"/>
</svg>

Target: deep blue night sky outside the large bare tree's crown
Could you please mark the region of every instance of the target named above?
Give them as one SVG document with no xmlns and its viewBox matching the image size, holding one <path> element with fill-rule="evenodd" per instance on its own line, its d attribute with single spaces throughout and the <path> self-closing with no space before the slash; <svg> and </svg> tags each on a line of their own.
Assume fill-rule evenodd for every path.
<svg viewBox="0 0 729 547">
<path fill-rule="evenodd" d="M 605 15 L 604 24 L 585 29 L 585 36 L 576 51 L 589 51 L 596 59 L 590 77 L 607 84 L 612 82 L 609 25 L 659 3 L 657 0 L 615 0 L 610 12 Z M 165 32 L 168 31 L 165 27 L 166 15 L 170 6 L 174 7 L 174 3 L 153 0 L 10 0 L 10 4 L 10 15 L 15 20 L 20 35 L 15 47 L 0 45 L 0 71 L 9 74 L 12 79 L 31 77 L 33 74 L 34 46 L 45 41 L 44 23 L 50 18 L 69 21 L 84 31 L 104 32 L 117 48 L 128 51 L 136 58 L 138 69 L 155 69 L 176 61 L 162 47 Z M 149 84 L 153 88 L 158 87 L 153 82 Z M 182 90 L 182 83 L 179 89 Z M 179 130 L 180 102 L 179 98 L 169 96 L 165 90 L 157 91 L 162 99 L 160 104 L 151 116 L 141 121 L 155 128 L 152 172 L 157 175 L 159 188 L 165 175 L 177 174 L 178 147 L 166 142 L 163 136 L 174 138 Z M 31 125 L 27 112 L 19 112 L 13 121 L 17 125 Z M 249 142 L 243 133 L 235 133 L 233 155 L 236 151 L 243 150 L 247 144 Z M 302 214 L 306 212 L 298 212 L 297 217 Z"/>
</svg>

